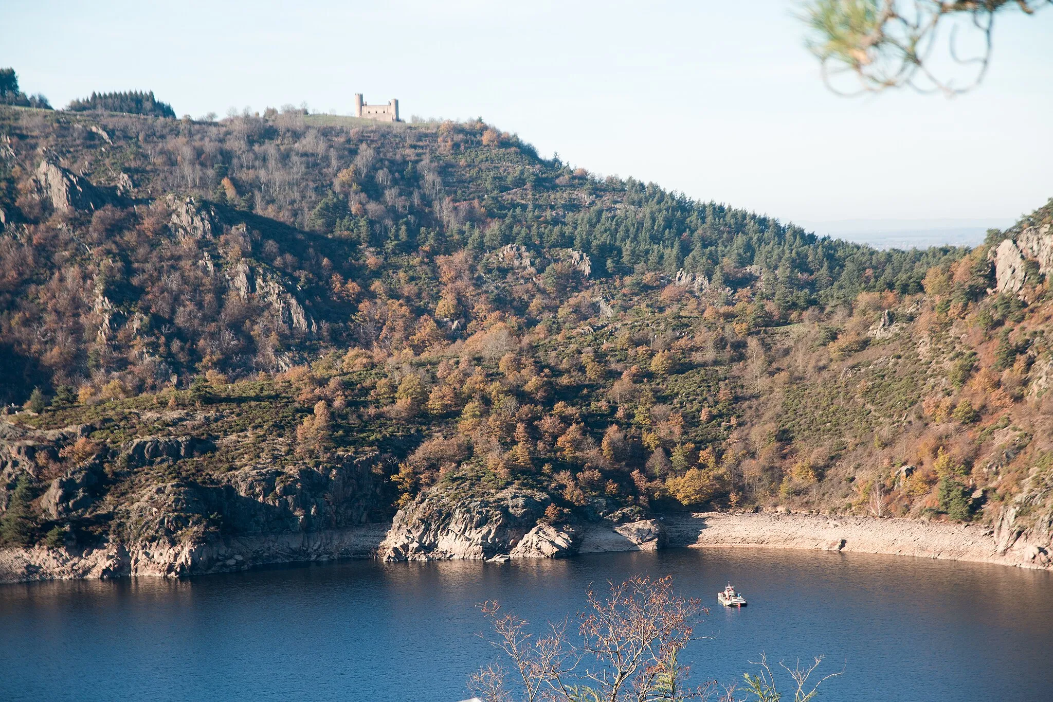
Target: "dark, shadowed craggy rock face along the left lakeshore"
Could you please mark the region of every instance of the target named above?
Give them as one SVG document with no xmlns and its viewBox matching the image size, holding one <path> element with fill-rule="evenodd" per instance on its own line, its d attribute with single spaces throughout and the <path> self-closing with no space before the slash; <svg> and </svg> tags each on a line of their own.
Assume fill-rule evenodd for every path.
<svg viewBox="0 0 1053 702">
<path fill-rule="evenodd" d="M 193 413 L 168 413 L 167 418 L 206 419 Z M 364 557 L 388 531 L 388 498 L 378 470 L 385 458 L 379 454 L 331 456 L 317 466 L 257 464 L 172 479 L 165 464 L 200 457 L 215 445 L 190 435 L 145 436 L 113 447 L 87 444 L 81 450 L 94 454 L 68 465 L 78 454 L 65 449 L 93 428 L 41 432 L 0 422 L 0 515 L 20 479 L 28 476 L 39 495 L 33 509 L 43 528 L 49 520 L 66 533 L 66 546 L 60 548 L 0 548 L 0 582 L 181 577 Z M 48 479 L 47 472 L 56 468 L 62 474 Z"/>
</svg>

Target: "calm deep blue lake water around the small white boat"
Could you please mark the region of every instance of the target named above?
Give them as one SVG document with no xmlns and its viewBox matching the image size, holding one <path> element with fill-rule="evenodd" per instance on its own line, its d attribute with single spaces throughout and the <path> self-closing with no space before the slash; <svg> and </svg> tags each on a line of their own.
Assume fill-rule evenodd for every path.
<svg viewBox="0 0 1053 702">
<path fill-rule="evenodd" d="M 5 585 L 0 700 L 455 702 L 496 658 L 479 602 L 540 623 L 638 573 L 711 605 L 713 638 L 684 657 L 698 682 L 739 680 L 766 651 L 843 668 L 819 700 L 1053 700 L 1053 574 L 759 548 Z M 729 579 L 749 607 L 716 605 Z"/>
</svg>

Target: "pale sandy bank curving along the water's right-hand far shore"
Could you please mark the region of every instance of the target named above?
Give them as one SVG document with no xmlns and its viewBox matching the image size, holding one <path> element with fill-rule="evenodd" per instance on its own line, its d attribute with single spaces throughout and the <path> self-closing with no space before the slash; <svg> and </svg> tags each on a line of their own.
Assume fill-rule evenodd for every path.
<svg viewBox="0 0 1053 702">
<path fill-rule="evenodd" d="M 764 546 L 890 554 L 1049 569 L 1044 548 L 1016 543 L 1001 553 L 989 526 L 912 519 L 773 513 L 695 513 L 663 519 L 670 546 Z"/>
</svg>

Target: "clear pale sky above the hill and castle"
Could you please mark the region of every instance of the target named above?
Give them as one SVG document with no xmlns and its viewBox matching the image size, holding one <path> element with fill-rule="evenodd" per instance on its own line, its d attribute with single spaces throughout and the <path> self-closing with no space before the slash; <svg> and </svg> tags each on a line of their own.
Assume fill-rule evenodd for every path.
<svg viewBox="0 0 1053 702">
<path fill-rule="evenodd" d="M 1053 9 L 999 16 L 987 81 L 949 100 L 829 93 L 793 0 L 15 4 L 0 66 L 56 106 L 397 97 L 405 118 L 481 116 L 575 166 L 813 225 L 1008 223 L 1053 196 Z"/>
</svg>

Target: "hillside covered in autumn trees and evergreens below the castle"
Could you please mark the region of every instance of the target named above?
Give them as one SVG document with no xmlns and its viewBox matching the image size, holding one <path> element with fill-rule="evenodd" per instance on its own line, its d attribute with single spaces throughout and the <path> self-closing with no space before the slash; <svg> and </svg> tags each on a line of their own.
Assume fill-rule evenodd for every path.
<svg viewBox="0 0 1053 702">
<path fill-rule="evenodd" d="M 552 523 L 993 521 L 1033 494 L 1010 521 L 1045 528 L 1049 206 L 974 250 L 880 252 L 481 121 L 0 109 L 0 399 L 26 406 L 9 445 L 47 446 L 8 449 L 8 542 L 506 486 Z"/>
</svg>

